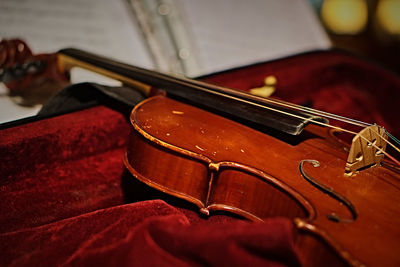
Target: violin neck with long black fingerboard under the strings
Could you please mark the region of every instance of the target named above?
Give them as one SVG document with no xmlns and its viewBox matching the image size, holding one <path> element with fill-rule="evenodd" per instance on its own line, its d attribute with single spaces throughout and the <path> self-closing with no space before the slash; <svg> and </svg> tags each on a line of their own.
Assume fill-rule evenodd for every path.
<svg viewBox="0 0 400 267">
<path fill-rule="evenodd" d="M 146 95 L 151 87 L 159 88 L 168 97 L 291 135 L 300 134 L 312 121 L 327 123 L 322 117 L 271 104 L 245 92 L 131 66 L 78 49 L 60 50 L 58 64 L 62 71 L 81 67 L 109 76 Z"/>
</svg>

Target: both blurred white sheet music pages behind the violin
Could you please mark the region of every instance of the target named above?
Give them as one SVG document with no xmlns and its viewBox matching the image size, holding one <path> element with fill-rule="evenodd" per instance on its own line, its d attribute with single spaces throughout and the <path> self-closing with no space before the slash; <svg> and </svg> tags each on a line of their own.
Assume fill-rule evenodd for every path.
<svg viewBox="0 0 400 267">
<path fill-rule="evenodd" d="M 171 43 L 192 46 L 183 47 L 195 55 L 192 63 L 196 64 L 188 65 L 195 67 L 187 69 L 191 77 L 330 47 L 307 0 L 154 1 L 155 6 L 175 1 L 182 13 L 182 20 L 167 23 L 169 27 L 178 23 L 179 30 L 167 32 L 177 35 Z M 34 53 L 76 47 L 144 68 L 160 67 L 154 64 L 155 54 L 150 54 L 128 0 L 0 0 L 0 37 L 23 37 Z M 163 42 L 159 46 L 168 47 Z M 182 47 L 175 49 L 169 54 L 182 51 Z M 82 70 L 73 70 L 72 81 L 115 84 Z M 38 109 L 29 113 L 11 105 L 0 96 L 0 123 L 9 120 L 11 113 L 16 119 L 18 109 L 20 117 L 34 115 Z"/>
</svg>

